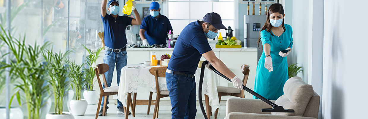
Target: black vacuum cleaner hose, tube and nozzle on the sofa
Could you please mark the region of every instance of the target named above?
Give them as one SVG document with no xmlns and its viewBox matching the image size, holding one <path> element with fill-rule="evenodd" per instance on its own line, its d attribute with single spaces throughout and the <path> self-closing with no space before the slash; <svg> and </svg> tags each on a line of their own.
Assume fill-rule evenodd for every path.
<svg viewBox="0 0 368 119">
<path fill-rule="evenodd" d="M 198 88 L 199 88 L 198 89 L 199 106 L 201 107 L 201 110 L 202 110 L 202 113 L 203 113 L 203 116 L 205 117 L 205 119 L 208 119 L 208 118 L 207 118 L 207 115 L 206 115 L 206 112 L 205 112 L 205 109 L 204 109 L 204 106 L 203 106 L 203 102 L 202 102 L 202 84 L 203 84 L 203 76 L 204 76 L 204 72 L 205 72 L 205 67 L 206 67 L 206 64 L 208 64 L 208 63 L 209 63 L 208 61 L 204 61 L 202 63 L 201 75 L 200 75 L 200 78 L 199 78 L 199 86 L 198 86 Z M 219 74 L 221 77 L 223 77 L 223 78 L 225 78 L 225 79 L 227 79 L 231 82 L 231 79 L 229 79 L 226 76 L 224 76 L 223 74 L 221 74 L 212 65 L 209 65 L 209 68 L 212 71 L 214 71 L 216 74 Z M 252 91 L 248 87 L 245 87 L 244 85 L 243 85 L 243 89 L 245 91 L 248 91 L 250 94 L 254 95 L 255 97 L 261 99 L 263 102 L 266 102 L 267 104 L 272 106 L 272 108 L 262 109 L 262 112 L 294 112 L 293 109 L 284 109 L 282 106 L 276 105 L 275 103 L 273 103 L 273 102 L 269 101 L 268 99 L 262 97 L 261 95 L 259 95 L 258 93 Z"/>
</svg>

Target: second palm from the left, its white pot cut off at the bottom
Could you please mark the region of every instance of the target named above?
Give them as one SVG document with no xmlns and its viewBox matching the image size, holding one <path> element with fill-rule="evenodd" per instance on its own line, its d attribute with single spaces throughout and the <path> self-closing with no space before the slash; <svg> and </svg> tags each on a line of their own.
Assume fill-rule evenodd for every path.
<svg viewBox="0 0 368 119">
<path fill-rule="evenodd" d="M 42 53 L 47 62 L 49 72 L 49 84 L 54 96 L 54 113 L 48 113 L 46 119 L 74 119 L 69 112 L 63 112 L 65 96 L 68 92 L 70 81 L 67 80 L 67 65 L 64 62 L 70 50 L 66 53 L 54 53 L 53 50 L 46 50 Z"/>
</svg>

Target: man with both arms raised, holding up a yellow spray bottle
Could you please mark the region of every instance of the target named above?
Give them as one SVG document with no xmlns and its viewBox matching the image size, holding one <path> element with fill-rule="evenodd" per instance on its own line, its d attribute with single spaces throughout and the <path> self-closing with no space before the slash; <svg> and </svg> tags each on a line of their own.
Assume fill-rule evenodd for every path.
<svg viewBox="0 0 368 119">
<path fill-rule="evenodd" d="M 103 63 L 109 65 L 109 70 L 105 73 L 107 86 L 110 87 L 113 72 L 116 66 L 116 80 L 117 85 L 120 81 L 121 68 L 127 65 L 127 51 L 125 45 L 127 45 L 127 38 L 125 37 L 125 28 L 127 25 L 140 25 L 141 17 L 138 11 L 135 9 L 135 1 L 132 1 L 132 11 L 134 11 L 135 18 L 130 18 L 127 16 L 119 16 L 119 2 L 117 0 L 110 0 L 107 10 L 110 11 L 110 15 L 106 13 L 106 3 L 107 0 L 102 0 L 101 4 L 101 18 L 103 21 L 103 30 L 105 32 L 105 55 L 103 56 Z M 103 85 L 105 88 L 105 85 Z M 103 103 L 105 97 L 102 97 L 101 110 L 99 115 L 103 113 Z M 109 99 L 107 97 L 107 104 L 109 104 Z M 108 107 L 106 107 L 107 109 Z M 123 104 L 117 100 L 117 113 L 124 114 Z M 107 111 L 105 111 L 106 114 Z"/>
</svg>

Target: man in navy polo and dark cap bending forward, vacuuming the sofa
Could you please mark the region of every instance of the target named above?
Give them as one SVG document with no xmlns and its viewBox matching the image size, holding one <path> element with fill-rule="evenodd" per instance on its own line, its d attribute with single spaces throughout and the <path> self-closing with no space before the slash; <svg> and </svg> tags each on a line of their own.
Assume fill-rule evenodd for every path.
<svg viewBox="0 0 368 119">
<path fill-rule="evenodd" d="M 243 90 L 243 82 L 240 78 L 232 73 L 220 59 L 217 59 L 208 44 L 207 38 L 215 38 L 220 29 L 226 29 L 220 15 L 207 13 L 202 21 L 189 23 L 176 40 L 166 70 L 166 84 L 171 101 L 171 119 L 194 119 L 196 116 L 197 94 L 194 74 L 201 56 L 204 56 L 213 67 L 230 78 L 235 87 Z"/>
</svg>

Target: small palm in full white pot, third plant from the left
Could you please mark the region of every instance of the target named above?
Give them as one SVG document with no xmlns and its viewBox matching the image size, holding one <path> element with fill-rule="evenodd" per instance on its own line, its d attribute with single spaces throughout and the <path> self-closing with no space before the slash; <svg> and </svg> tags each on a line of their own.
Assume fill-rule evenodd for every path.
<svg viewBox="0 0 368 119">
<path fill-rule="evenodd" d="M 71 87 L 75 89 L 76 94 L 76 99 L 70 101 L 70 110 L 73 115 L 82 116 L 88 105 L 85 99 L 81 99 L 81 91 L 88 83 L 88 80 L 84 79 L 83 66 L 85 63 L 75 64 L 75 61 L 71 62 L 69 59 L 66 59 L 66 63 L 68 64 L 68 77 L 71 79 Z"/>
</svg>

